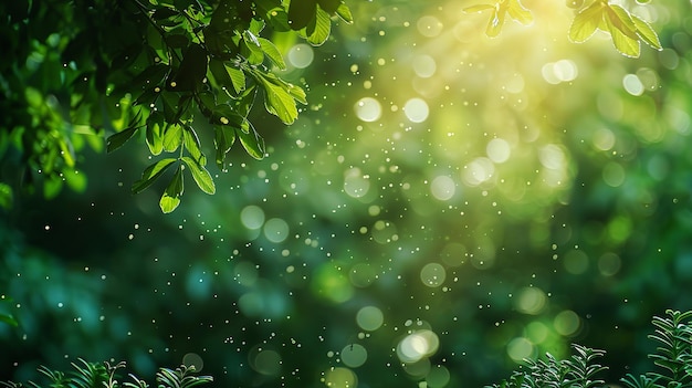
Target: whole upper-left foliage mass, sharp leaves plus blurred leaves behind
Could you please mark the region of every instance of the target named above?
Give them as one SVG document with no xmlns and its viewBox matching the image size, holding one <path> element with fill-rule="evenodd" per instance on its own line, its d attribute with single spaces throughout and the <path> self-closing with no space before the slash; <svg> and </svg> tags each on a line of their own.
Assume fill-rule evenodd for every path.
<svg viewBox="0 0 692 388">
<path fill-rule="evenodd" d="M 221 128 L 213 129 L 223 135 L 213 145 L 221 169 L 235 137 L 261 159 L 264 141 L 248 118 L 256 94 L 284 124 L 297 118 L 296 104 L 307 103 L 300 86 L 273 73 L 286 67 L 273 31 L 293 30 L 319 45 L 333 17 L 353 21 L 342 0 L 48 1 L 2 4 L 0 13 L 9 20 L 3 41 L 14 46 L 29 40 L 29 49 L 9 51 L 14 56 L 2 65 L 11 71 L 0 78 L 9 97 L 0 108 L 19 113 L 0 122 L 9 128 L 0 155 L 17 153 L 15 165 L 24 170 L 0 177 L 0 206 L 9 207 L 11 186 L 35 180 L 46 198 L 63 183 L 83 190 L 77 159 L 85 143 L 99 150 L 105 135 L 111 153 L 141 134 L 151 156 L 175 154 L 179 165 L 160 200 L 167 212 L 180 202 L 182 165 L 203 192 L 216 191 L 201 132 Z M 133 192 L 161 177 L 148 172 Z"/>
</svg>

